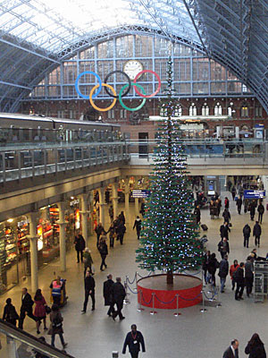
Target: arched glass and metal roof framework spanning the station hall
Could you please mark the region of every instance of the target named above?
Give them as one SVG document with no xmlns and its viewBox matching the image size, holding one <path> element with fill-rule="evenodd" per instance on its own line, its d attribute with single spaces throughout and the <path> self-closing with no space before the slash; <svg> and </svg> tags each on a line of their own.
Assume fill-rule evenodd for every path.
<svg viewBox="0 0 268 358">
<path fill-rule="evenodd" d="M 17 110 L 46 72 L 78 51 L 147 33 L 196 47 L 230 69 L 268 111 L 266 0 L 66 2 L 61 8 L 54 0 L 0 1 L 1 110 Z"/>
</svg>

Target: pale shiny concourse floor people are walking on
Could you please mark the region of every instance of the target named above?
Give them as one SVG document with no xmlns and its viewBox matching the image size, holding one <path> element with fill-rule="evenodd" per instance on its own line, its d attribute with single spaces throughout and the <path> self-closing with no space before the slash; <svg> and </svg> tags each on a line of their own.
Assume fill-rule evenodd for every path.
<svg viewBox="0 0 268 358">
<path fill-rule="evenodd" d="M 130 205 L 130 210 L 134 210 L 134 206 Z M 251 237 L 250 249 L 243 247 L 242 227 L 250 222 L 249 214 L 243 213 L 239 216 L 235 204 L 231 200 L 230 212 L 233 224 L 230 233 L 229 261 L 231 263 L 234 259 L 246 260 L 247 254 L 254 245 Z M 207 248 L 217 252 L 217 243 L 220 237 L 219 226 L 222 224 L 222 219 L 211 220 L 207 209 L 202 210 L 201 215 L 202 223 L 209 227 Z M 119 351 L 122 356 L 123 340 L 132 323 L 136 323 L 138 329 L 144 334 L 147 353 L 140 354 L 140 356 L 147 358 L 222 357 L 222 352 L 234 337 L 240 341 L 239 357 L 245 357 L 244 349 L 247 340 L 255 332 L 258 332 L 264 340 L 264 344 L 268 345 L 268 303 L 254 303 L 252 298 L 247 299 L 247 297 L 244 301 L 235 301 L 234 294 L 230 290 L 230 278 L 227 279 L 225 293 L 220 297 L 222 307 L 207 307 L 205 313 L 200 312 L 200 306 L 195 306 L 181 310 L 181 315 L 177 318 L 173 316 L 173 311 L 158 311 L 153 316 L 150 315 L 149 309 L 138 312 L 136 294 L 130 294 L 130 304 L 124 306 L 123 309 L 126 320 L 114 322 L 110 319 L 106 315 L 107 308 L 104 306 L 102 297 L 106 275 L 108 273 L 112 273 L 113 277 L 128 275 L 131 280 L 138 269 L 135 262 L 135 249 L 138 246 L 138 241 L 135 231 L 132 230 L 133 221 L 134 216 L 127 226 L 125 243 L 121 246 L 116 242 L 114 249 L 109 251 L 108 268 L 105 272 L 99 271 L 100 258 L 96 251 L 96 237 L 90 239 L 90 249 L 93 251 L 96 266 L 96 311 L 94 312 L 88 311 L 85 315 L 80 314 L 84 296 L 83 266 L 76 263 L 75 251 L 68 254 L 67 272 L 63 275 L 67 279 L 69 295 L 68 304 L 63 308 L 63 328 L 64 337 L 69 343 L 68 353 L 77 358 L 110 358 L 113 351 Z M 250 222 L 251 226 L 253 226 L 252 223 Z M 260 256 L 266 255 L 268 251 L 267 232 L 268 213 L 265 212 L 261 248 L 258 250 Z M 219 259 L 218 253 L 217 257 Z M 140 269 L 138 271 L 145 275 Z M 47 300 L 49 298 L 48 286 L 54 278 L 54 272 L 56 274 L 59 272 L 58 261 L 49 264 L 39 272 L 39 286 Z M 219 277 L 217 277 L 217 282 L 219 283 Z M 30 282 L 23 283 L 21 286 L 30 287 Z M 19 311 L 21 286 L 16 286 L 0 297 L 1 309 L 5 299 L 10 296 Z M 24 328 L 30 333 L 36 334 L 35 324 L 28 318 L 25 320 Z M 60 347 L 59 340 L 56 340 L 56 345 Z M 2 357 L 1 352 L 0 356 Z"/>
</svg>

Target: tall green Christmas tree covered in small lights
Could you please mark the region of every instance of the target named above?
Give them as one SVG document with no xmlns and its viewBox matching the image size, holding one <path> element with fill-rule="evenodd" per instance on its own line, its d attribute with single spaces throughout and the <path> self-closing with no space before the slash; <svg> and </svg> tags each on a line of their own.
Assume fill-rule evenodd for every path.
<svg viewBox="0 0 268 358">
<path fill-rule="evenodd" d="M 166 270 L 169 285 L 173 283 L 174 271 L 199 267 L 203 255 L 192 213 L 193 195 L 180 141 L 180 126 L 172 119 L 178 106 L 172 87 L 172 59 L 169 58 L 166 98 L 162 102 L 165 117 L 156 136 L 151 195 L 137 250 L 138 266 L 149 271 Z"/>
</svg>

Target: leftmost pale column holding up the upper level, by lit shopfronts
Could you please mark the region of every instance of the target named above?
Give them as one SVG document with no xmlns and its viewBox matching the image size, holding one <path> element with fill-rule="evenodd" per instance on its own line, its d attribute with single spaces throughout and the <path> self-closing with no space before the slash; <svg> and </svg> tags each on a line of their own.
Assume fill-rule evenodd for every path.
<svg viewBox="0 0 268 358">
<path fill-rule="evenodd" d="M 29 213 L 28 217 L 31 292 L 35 294 L 38 289 L 38 211 Z"/>
</svg>

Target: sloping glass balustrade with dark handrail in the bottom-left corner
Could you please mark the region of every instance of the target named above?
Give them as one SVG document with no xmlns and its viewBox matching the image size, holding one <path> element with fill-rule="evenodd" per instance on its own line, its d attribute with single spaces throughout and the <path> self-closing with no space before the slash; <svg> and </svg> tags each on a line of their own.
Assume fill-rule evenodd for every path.
<svg viewBox="0 0 268 358">
<path fill-rule="evenodd" d="M 8 358 L 35 357 L 37 353 L 48 358 L 74 358 L 72 355 L 54 348 L 52 345 L 15 328 L 12 324 L 0 320 L 0 332 L 6 339 L 2 340 L 1 356 Z M 2 355 L 3 354 L 3 355 Z"/>
</svg>

